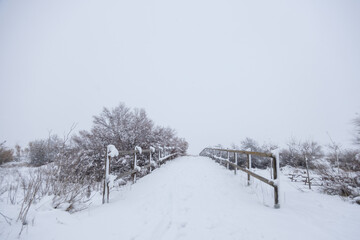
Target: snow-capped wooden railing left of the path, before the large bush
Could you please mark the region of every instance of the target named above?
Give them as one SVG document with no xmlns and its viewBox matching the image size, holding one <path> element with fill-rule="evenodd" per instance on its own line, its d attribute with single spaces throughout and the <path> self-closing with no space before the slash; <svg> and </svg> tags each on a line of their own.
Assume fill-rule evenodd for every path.
<svg viewBox="0 0 360 240">
<path fill-rule="evenodd" d="M 132 176 L 133 183 L 136 183 L 137 173 L 141 171 L 141 169 L 147 169 L 149 168 L 149 173 L 152 171 L 152 168 L 160 167 L 163 163 L 165 163 L 167 160 L 175 158 L 177 155 L 179 155 L 178 149 L 172 148 L 172 147 L 150 147 L 149 149 L 141 149 L 139 147 L 135 147 L 134 150 L 128 150 L 128 151 L 117 151 L 117 156 L 127 156 L 127 155 L 133 155 L 133 164 L 132 169 L 130 171 L 121 173 L 120 175 L 116 176 L 115 180 L 126 178 L 129 176 Z M 158 152 L 157 158 L 153 158 L 153 154 L 156 154 Z M 102 203 L 105 203 L 105 196 L 106 196 L 106 202 L 109 203 L 109 194 L 110 194 L 110 163 L 111 159 L 113 157 L 109 154 L 109 147 L 107 148 L 107 154 L 106 154 L 106 160 L 105 160 L 105 175 L 104 175 L 104 185 L 103 185 L 103 199 Z M 137 165 L 137 159 L 139 155 L 149 154 L 149 163 L 145 164 L 143 166 Z"/>
</svg>

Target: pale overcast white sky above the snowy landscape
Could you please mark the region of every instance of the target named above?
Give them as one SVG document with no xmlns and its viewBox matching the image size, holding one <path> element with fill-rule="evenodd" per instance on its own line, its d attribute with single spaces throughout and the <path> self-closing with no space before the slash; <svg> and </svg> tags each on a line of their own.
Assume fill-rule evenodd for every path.
<svg viewBox="0 0 360 240">
<path fill-rule="evenodd" d="M 360 1 L 0 0 L 0 141 L 120 102 L 190 153 L 244 137 L 351 146 Z"/>
</svg>

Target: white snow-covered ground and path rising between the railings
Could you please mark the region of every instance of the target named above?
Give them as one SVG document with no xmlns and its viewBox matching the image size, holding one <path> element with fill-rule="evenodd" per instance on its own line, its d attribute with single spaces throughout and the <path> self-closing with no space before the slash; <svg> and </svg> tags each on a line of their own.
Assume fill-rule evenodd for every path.
<svg viewBox="0 0 360 240">
<path fill-rule="evenodd" d="M 94 199 L 72 215 L 37 205 L 20 239 L 359 239 L 360 206 L 299 191 L 282 177 L 274 209 L 264 205 L 271 188 L 256 180 L 247 187 L 245 178 L 209 158 L 181 157 L 111 192 L 109 204 Z M 18 239 L 19 225 L 1 225 L 2 240 Z"/>
</svg>

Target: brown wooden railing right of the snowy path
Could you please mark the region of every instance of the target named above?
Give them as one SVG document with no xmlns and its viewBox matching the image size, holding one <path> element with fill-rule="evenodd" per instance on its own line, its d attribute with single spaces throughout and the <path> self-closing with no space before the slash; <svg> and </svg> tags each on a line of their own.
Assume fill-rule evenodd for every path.
<svg viewBox="0 0 360 240">
<path fill-rule="evenodd" d="M 227 158 L 223 158 L 222 155 L 225 153 Z M 234 162 L 230 160 L 230 154 L 234 154 Z M 238 165 L 238 154 L 243 154 L 247 156 L 246 168 Z M 272 177 L 273 179 L 267 179 L 263 176 L 260 176 L 251 171 L 251 156 L 258 156 L 269 158 L 271 160 L 272 167 Z M 205 148 L 201 151 L 200 156 L 207 156 L 212 159 L 218 160 L 220 164 L 226 165 L 227 169 L 229 166 L 234 168 L 234 173 L 236 174 L 237 170 L 247 173 L 248 181 L 247 184 L 250 185 L 250 176 L 270 185 L 274 188 L 274 208 L 280 208 L 279 203 L 279 157 L 276 154 L 272 153 L 262 153 L 262 152 L 252 152 L 252 151 L 242 151 L 242 150 L 232 150 L 232 149 L 221 149 L 221 148 Z"/>
</svg>

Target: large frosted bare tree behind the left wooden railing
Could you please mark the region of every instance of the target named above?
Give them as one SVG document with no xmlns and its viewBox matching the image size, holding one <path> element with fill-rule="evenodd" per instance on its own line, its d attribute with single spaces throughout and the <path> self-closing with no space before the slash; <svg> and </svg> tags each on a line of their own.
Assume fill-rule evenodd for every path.
<svg viewBox="0 0 360 240">
<path fill-rule="evenodd" d="M 90 131 L 80 131 L 74 136 L 73 142 L 78 150 L 78 158 L 87 163 L 85 169 L 89 175 L 96 176 L 97 181 L 102 178 L 106 146 L 114 145 L 120 151 L 142 148 L 171 146 L 185 154 L 188 144 L 178 138 L 171 128 L 154 126 L 154 123 L 144 109 L 126 107 L 121 103 L 113 109 L 104 108 L 94 116 L 93 127 Z M 139 159 L 139 165 L 145 160 Z M 113 161 L 111 171 L 121 172 L 128 165 Z"/>
</svg>

